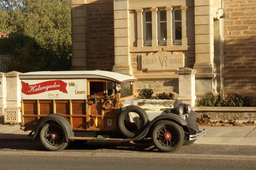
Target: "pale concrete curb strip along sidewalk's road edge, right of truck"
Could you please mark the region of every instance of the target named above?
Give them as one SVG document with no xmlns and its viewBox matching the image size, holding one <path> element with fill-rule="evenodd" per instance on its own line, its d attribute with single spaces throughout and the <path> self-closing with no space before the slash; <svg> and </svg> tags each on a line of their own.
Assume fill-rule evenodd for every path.
<svg viewBox="0 0 256 170">
<path fill-rule="evenodd" d="M 253 145 L 256 146 L 256 137 L 207 137 L 203 136 L 195 144 L 207 145 Z"/>
</svg>

